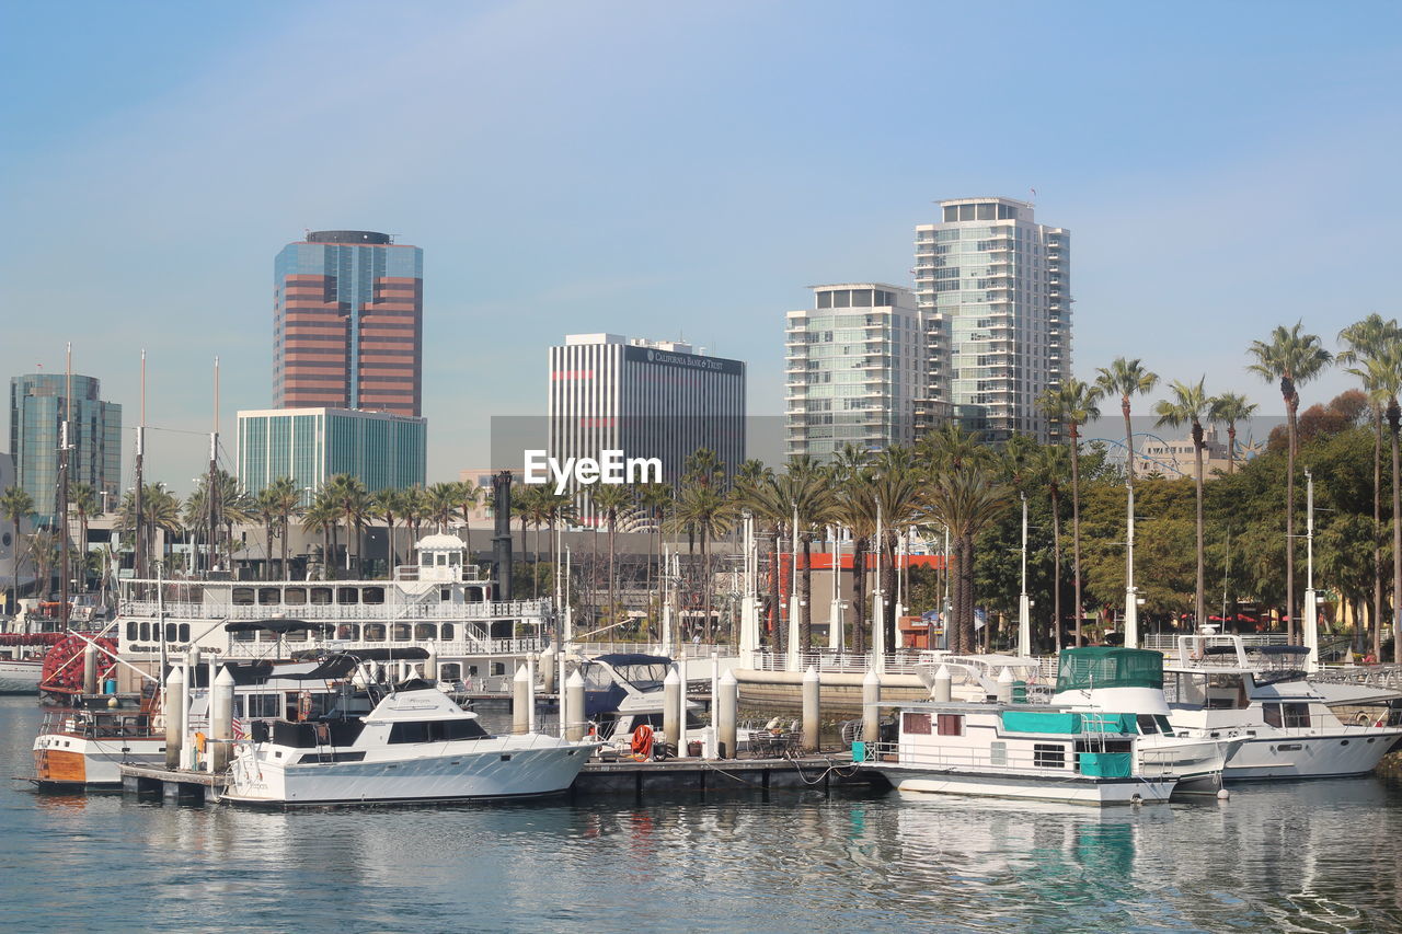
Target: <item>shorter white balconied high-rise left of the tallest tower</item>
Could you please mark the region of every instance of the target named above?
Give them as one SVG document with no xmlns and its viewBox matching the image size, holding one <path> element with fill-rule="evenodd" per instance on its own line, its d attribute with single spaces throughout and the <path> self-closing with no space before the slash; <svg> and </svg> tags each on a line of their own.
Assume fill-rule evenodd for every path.
<svg viewBox="0 0 1402 934">
<path fill-rule="evenodd" d="M 789 311 L 785 327 L 788 456 L 910 443 L 925 384 L 914 296 L 880 282 L 812 289 L 813 307 Z"/>
</svg>

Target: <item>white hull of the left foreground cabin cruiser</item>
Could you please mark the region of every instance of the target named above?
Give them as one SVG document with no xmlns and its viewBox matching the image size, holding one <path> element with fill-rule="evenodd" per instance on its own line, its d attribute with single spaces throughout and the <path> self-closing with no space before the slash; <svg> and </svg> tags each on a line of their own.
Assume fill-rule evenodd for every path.
<svg viewBox="0 0 1402 934">
<path fill-rule="evenodd" d="M 594 745 L 491 747 L 422 759 L 283 766 L 240 754 L 223 799 L 233 804 L 342 805 L 470 801 L 559 794 Z"/>
</svg>

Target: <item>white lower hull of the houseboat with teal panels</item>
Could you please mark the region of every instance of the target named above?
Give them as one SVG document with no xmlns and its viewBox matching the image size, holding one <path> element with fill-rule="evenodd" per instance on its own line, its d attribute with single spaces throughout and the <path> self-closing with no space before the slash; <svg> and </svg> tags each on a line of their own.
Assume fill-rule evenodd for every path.
<svg viewBox="0 0 1402 934">
<path fill-rule="evenodd" d="M 1044 776 L 951 773 L 900 766 L 876 766 L 876 770 L 883 773 L 897 791 L 1059 801 L 1091 806 L 1159 804 L 1168 801 L 1176 784 L 1172 778 L 1089 778 L 1078 776 L 1049 780 Z"/>
</svg>

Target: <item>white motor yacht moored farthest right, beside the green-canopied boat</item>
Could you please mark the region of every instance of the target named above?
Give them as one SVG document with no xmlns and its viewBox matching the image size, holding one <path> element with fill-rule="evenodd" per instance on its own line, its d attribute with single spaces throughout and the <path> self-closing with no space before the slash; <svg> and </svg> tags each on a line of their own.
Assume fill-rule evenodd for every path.
<svg viewBox="0 0 1402 934">
<path fill-rule="evenodd" d="M 1245 662 L 1239 637 L 1186 635 L 1164 669 L 1175 732 L 1242 740 L 1228 781 L 1360 776 L 1402 738 L 1402 726 L 1340 722 L 1293 649 L 1263 647 Z"/>
</svg>

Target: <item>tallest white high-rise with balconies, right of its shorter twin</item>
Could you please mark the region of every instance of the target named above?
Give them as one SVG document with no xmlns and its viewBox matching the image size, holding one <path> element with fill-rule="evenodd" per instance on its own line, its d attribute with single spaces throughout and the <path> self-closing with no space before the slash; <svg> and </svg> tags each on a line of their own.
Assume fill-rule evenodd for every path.
<svg viewBox="0 0 1402 934">
<path fill-rule="evenodd" d="M 925 323 L 924 411 L 983 408 L 994 438 L 1046 439 L 1043 388 L 1071 372 L 1070 231 L 1011 198 L 941 201 L 916 227 L 916 296 Z"/>
</svg>

